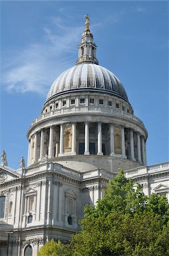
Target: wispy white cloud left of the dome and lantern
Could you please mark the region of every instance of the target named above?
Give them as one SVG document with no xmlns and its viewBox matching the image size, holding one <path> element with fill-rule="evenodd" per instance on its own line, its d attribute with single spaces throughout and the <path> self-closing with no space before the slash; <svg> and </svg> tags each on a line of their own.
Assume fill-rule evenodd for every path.
<svg viewBox="0 0 169 256">
<path fill-rule="evenodd" d="M 1 84 L 9 93 L 47 94 L 53 80 L 69 68 L 82 34 L 82 27 L 64 26 L 61 18 L 45 26 L 41 42 L 29 44 L 17 52 L 2 53 Z M 66 53 L 66 54 L 65 54 Z M 69 54 L 67 54 L 69 53 Z"/>
</svg>

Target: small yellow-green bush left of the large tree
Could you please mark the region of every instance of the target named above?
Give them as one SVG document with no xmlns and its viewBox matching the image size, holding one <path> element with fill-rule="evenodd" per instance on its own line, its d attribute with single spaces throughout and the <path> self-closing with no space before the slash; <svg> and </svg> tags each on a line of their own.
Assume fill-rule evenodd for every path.
<svg viewBox="0 0 169 256">
<path fill-rule="evenodd" d="M 37 256 L 59 256 L 64 255 L 64 245 L 58 240 L 56 243 L 53 239 L 45 243 L 44 246 L 37 251 Z"/>
</svg>

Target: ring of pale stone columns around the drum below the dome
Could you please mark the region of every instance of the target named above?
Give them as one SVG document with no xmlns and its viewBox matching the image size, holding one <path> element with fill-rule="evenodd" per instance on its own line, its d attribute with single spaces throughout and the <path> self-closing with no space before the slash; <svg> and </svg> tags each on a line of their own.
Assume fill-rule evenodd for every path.
<svg viewBox="0 0 169 256">
<path fill-rule="evenodd" d="M 89 130 L 89 123 L 90 122 L 84 122 L 84 155 L 90 155 L 90 130 Z M 79 154 L 77 152 L 77 123 L 72 122 L 70 123 L 71 126 L 71 151 L 66 152 L 64 151 L 64 123 L 60 123 L 60 136 L 59 136 L 59 154 L 57 156 L 63 156 L 63 155 L 76 155 Z M 97 141 L 97 155 L 103 155 L 103 149 L 102 149 L 102 122 L 97 123 L 98 131 L 96 131 L 96 141 Z M 54 150 L 53 150 L 53 139 L 54 139 L 54 125 L 49 126 L 49 145 L 48 145 L 48 158 L 53 158 L 54 156 Z M 133 131 L 132 129 L 129 130 L 129 156 L 126 156 L 126 139 L 125 139 L 125 126 L 118 126 L 120 127 L 120 151 L 121 154 L 117 154 L 116 148 L 115 148 L 115 127 L 116 125 L 113 123 L 109 123 L 109 154 L 111 156 L 119 156 L 121 158 L 129 158 L 130 160 L 146 164 L 146 146 L 145 146 L 145 138 L 143 135 L 138 133 L 137 131 Z M 39 154 L 37 155 L 37 134 L 40 135 L 40 148 L 39 148 Z M 137 134 L 137 142 L 134 143 L 134 134 Z M 45 136 L 45 129 L 41 129 L 39 131 L 36 131 L 31 138 L 29 138 L 29 149 L 28 149 L 28 165 L 32 163 L 36 163 L 43 159 L 44 155 L 47 154 L 47 152 L 44 151 L 44 136 Z M 136 136 L 136 135 L 135 135 Z M 134 151 L 135 146 L 135 151 Z M 136 150 L 137 146 L 137 150 Z M 136 153 L 137 152 L 137 153 Z M 136 159 L 137 154 L 137 159 Z"/>
</svg>

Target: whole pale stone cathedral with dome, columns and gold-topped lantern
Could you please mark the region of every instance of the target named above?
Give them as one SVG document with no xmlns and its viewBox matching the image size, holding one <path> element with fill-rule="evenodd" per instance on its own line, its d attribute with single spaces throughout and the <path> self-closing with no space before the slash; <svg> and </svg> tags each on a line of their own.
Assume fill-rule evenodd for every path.
<svg viewBox="0 0 169 256">
<path fill-rule="evenodd" d="M 2 152 L 1 255 L 35 256 L 51 238 L 69 241 L 119 167 L 146 195 L 169 199 L 169 164 L 147 166 L 147 130 L 120 80 L 99 65 L 85 18 L 76 65 L 53 82 L 28 129 L 27 167 L 22 158 L 13 170 Z"/>
</svg>

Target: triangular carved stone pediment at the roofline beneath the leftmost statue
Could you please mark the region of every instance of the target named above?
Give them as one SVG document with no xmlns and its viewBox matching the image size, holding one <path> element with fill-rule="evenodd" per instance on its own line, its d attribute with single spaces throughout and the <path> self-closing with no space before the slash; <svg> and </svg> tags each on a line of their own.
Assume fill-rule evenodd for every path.
<svg viewBox="0 0 169 256">
<path fill-rule="evenodd" d="M 7 166 L 0 166 L 0 184 L 15 180 L 21 177 L 22 175 L 18 174 L 14 169 Z"/>
</svg>

